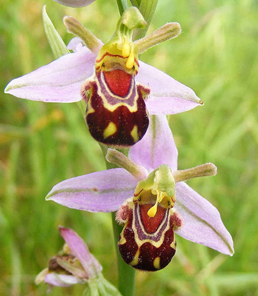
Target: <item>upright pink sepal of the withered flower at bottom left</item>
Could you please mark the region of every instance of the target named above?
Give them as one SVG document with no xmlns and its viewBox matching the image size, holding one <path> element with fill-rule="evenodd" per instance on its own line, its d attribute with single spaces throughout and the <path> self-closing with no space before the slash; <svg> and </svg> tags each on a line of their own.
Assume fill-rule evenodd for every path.
<svg viewBox="0 0 258 296">
<path fill-rule="evenodd" d="M 60 234 L 70 248 L 72 254 L 77 257 L 89 278 L 101 273 L 102 267 L 97 259 L 92 260 L 92 255 L 85 242 L 72 229 L 59 226 Z"/>
</svg>

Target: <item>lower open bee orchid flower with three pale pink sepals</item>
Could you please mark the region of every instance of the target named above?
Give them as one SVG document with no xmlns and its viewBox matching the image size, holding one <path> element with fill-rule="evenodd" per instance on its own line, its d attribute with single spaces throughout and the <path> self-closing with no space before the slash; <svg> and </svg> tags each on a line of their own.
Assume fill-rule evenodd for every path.
<svg viewBox="0 0 258 296">
<path fill-rule="evenodd" d="M 106 159 L 121 168 L 70 178 L 47 195 L 61 205 L 91 212 L 117 211 L 124 225 L 118 242 L 124 261 L 146 271 L 172 259 L 174 232 L 192 242 L 233 255 L 233 240 L 218 210 L 184 181 L 217 173 L 208 163 L 177 170 L 177 148 L 164 115 L 151 116 L 144 138 L 129 158 L 108 149 Z"/>
</svg>

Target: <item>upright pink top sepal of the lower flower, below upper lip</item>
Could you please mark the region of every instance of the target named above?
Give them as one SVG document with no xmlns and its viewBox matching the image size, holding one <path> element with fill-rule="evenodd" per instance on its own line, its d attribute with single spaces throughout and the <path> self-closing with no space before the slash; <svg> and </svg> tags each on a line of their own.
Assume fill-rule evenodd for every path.
<svg viewBox="0 0 258 296">
<path fill-rule="evenodd" d="M 144 137 L 128 152 L 129 158 L 147 169 L 169 165 L 177 170 L 177 147 L 165 115 L 151 115 Z"/>
</svg>

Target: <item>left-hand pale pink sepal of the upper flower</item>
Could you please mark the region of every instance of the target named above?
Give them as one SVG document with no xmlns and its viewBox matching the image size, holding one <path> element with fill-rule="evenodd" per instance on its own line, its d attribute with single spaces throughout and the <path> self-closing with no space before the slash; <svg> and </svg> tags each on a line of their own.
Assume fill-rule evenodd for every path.
<svg viewBox="0 0 258 296">
<path fill-rule="evenodd" d="M 48 65 L 13 79 L 4 92 L 23 99 L 70 103 L 81 100 L 82 81 L 93 74 L 96 56 L 84 46 Z"/>
</svg>

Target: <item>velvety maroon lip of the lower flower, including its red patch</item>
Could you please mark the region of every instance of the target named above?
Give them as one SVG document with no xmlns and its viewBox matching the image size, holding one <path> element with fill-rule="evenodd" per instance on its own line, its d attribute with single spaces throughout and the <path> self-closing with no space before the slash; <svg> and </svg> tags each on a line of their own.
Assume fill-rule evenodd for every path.
<svg viewBox="0 0 258 296">
<path fill-rule="evenodd" d="M 124 261 L 143 271 L 156 271 L 169 264 L 176 251 L 174 229 L 181 226 L 178 214 L 160 205 L 156 215 L 149 217 L 147 212 L 152 206 L 129 202 L 118 241 Z"/>
</svg>

